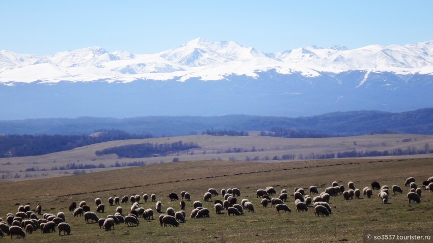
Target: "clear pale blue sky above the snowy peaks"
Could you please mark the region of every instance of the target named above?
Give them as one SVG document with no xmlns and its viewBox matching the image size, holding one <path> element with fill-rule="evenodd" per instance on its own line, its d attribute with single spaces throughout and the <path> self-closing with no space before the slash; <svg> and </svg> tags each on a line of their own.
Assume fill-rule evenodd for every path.
<svg viewBox="0 0 433 243">
<path fill-rule="evenodd" d="M 156 53 L 197 37 L 264 52 L 433 40 L 433 1 L 0 1 L 0 50 Z"/>
</svg>

